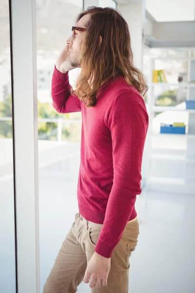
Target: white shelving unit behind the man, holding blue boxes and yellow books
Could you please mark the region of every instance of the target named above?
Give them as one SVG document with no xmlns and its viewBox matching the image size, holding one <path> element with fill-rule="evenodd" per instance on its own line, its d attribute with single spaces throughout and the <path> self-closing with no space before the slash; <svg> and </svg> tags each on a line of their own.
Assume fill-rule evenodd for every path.
<svg viewBox="0 0 195 293">
<path fill-rule="evenodd" d="M 160 106 L 156 102 L 157 95 L 174 88 L 181 92 L 184 91 L 181 95 L 185 93 L 186 100 L 194 99 L 195 83 L 193 81 L 195 80 L 195 58 L 191 58 L 190 56 L 190 54 L 189 56 L 180 58 L 162 58 L 159 56 L 152 58 L 150 63 L 150 92 L 147 105 L 150 119 L 147 142 L 149 163 L 146 187 L 148 190 L 154 190 L 155 192 L 165 191 L 195 194 L 195 109 L 186 109 L 185 102 L 178 102 L 180 104 L 175 106 Z M 178 60 L 181 63 L 186 61 L 188 65 L 186 70 L 188 78 L 183 78 L 183 81 L 179 83 L 177 78 L 170 80 L 167 77 L 167 83 L 154 83 L 153 70 L 158 60 L 162 64 L 164 61 L 167 61 L 166 64 L 170 62 L 174 63 L 174 60 Z M 164 63 L 165 66 L 166 64 Z M 161 65 L 161 68 L 164 65 Z M 164 81 L 163 77 L 162 81 Z M 155 128 L 153 128 L 152 120 L 160 113 L 163 114 L 154 120 Z M 171 123 L 172 118 L 173 122 L 185 122 L 187 134 L 160 133 L 160 127 L 158 127 L 160 122 Z M 189 134 L 188 130 L 190 132 Z"/>
</svg>

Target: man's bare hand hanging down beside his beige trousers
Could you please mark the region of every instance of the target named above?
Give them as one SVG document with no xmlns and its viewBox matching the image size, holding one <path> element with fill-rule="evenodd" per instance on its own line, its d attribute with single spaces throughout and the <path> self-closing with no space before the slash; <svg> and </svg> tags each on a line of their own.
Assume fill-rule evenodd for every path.
<svg viewBox="0 0 195 293">
<path fill-rule="evenodd" d="M 107 286 L 108 275 L 110 272 L 111 257 L 106 258 L 94 252 L 87 264 L 87 269 L 83 279 L 84 283 L 89 283 L 90 288 Z M 90 279 L 90 280 L 89 280 Z"/>
</svg>

